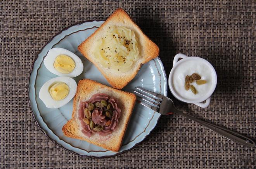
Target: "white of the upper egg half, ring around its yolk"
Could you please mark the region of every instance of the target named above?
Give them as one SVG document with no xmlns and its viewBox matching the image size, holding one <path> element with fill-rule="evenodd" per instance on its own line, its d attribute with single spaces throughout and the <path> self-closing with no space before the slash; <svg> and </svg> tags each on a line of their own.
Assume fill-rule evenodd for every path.
<svg viewBox="0 0 256 169">
<path fill-rule="evenodd" d="M 69 57 L 71 57 L 75 62 L 75 68 L 74 70 L 69 74 L 60 73 L 54 68 L 54 61 L 55 58 L 61 54 L 65 54 Z M 67 76 L 70 78 L 76 77 L 80 75 L 83 72 L 83 63 L 81 59 L 74 54 L 73 52 L 63 49 L 61 47 L 55 47 L 48 51 L 47 55 L 45 56 L 45 59 L 43 60 L 43 63 L 45 64 L 45 67 L 53 74 L 56 74 L 58 76 Z"/>
</svg>

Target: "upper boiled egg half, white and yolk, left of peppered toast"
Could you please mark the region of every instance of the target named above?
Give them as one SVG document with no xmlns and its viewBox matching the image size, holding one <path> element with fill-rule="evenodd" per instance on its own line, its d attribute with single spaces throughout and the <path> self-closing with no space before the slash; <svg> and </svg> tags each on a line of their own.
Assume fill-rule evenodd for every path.
<svg viewBox="0 0 256 169">
<path fill-rule="evenodd" d="M 58 76 L 73 78 L 83 71 L 81 59 L 73 52 L 61 47 L 50 49 L 43 63 L 48 71 Z"/>
</svg>

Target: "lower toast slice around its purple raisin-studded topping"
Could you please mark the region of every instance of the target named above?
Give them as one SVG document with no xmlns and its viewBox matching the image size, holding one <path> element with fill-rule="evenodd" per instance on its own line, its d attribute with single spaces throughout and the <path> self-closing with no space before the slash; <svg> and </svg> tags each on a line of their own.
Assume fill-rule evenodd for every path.
<svg viewBox="0 0 256 169">
<path fill-rule="evenodd" d="M 81 102 L 88 101 L 93 95 L 99 93 L 104 93 L 114 98 L 116 103 L 118 103 L 118 107 L 121 109 L 121 116 L 115 130 L 109 135 L 101 136 L 96 132 L 88 137 L 81 131 L 83 128 L 78 117 L 78 110 Z M 62 127 L 62 132 L 67 137 L 85 140 L 104 149 L 118 152 L 121 148 L 135 102 L 136 96 L 133 93 L 117 90 L 90 79 L 80 80 L 76 95 L 74 96 L 72 118 Z"/>
</svg>

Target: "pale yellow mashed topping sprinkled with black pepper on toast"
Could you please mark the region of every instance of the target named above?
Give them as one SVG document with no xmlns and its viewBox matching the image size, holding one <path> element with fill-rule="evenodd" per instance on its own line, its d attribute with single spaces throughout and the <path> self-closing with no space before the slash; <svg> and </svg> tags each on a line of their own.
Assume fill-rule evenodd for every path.
<svg viewBox="0 0 256 169">
<path fill-rule="evenodd" d="M 95 60 L 111 70 L 126 72 L 140 58 L 138 39 L 126 27 L 108 27 L 106 34 L 95 41 Z"/>
</svg>

